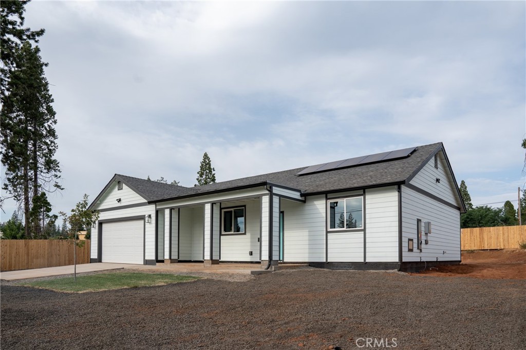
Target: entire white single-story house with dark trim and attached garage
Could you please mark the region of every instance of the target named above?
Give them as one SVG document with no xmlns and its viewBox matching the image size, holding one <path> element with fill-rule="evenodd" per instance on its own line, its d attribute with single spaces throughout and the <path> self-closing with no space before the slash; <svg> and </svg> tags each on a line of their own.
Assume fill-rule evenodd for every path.
<svg viewBox="0 0 526 350">
<path fill-rule="evenodd" d="M 458 263 L 466 210 L 442 143 L 196 187 L 116 174 L 90 209 L 92 262 L 401 270 Z"/>
</svg>

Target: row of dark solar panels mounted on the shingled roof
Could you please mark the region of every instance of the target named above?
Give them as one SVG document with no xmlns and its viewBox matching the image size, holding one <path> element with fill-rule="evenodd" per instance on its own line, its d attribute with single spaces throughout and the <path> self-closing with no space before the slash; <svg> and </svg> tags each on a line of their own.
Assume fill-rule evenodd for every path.
<svg viewBox="0 0 526 350">
<path fill-rule="evenodd" d="M 379 163 L 379 162 L 385 162 L 385 161 L 392 161 L 392 160 L 401 159 L 401 158 L 407 158 L 416 149 L 417 147 L 411 147 L 411 148 L 403 149 L 403 150 L 382 152 L 382 153 L 376 153 L 376 154 L 371 154 L 371 155 L 366 155 L 366 156 L 361 156 L 361 157 L 348 158 L 342 161 L 311 165 L 303 169 L 296 175 L 321 173 L 321 172 L 326 172 L 326 171 L 330 171 L 333 169 L 343 169 L 343 168 L 349 168 L 349 167 L 357 166 L 357 165 L 366 165 L 366 164 L 373 164 L 373 163 Z"/>
</svg>

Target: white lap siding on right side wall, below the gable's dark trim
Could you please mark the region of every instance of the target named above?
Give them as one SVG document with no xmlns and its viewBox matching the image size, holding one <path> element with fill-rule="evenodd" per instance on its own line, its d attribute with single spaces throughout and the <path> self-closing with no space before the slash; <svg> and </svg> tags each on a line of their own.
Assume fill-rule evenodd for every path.
<svg viewBox="0 0 526 350">
<path fill-rule="evenodd" d="M 422 252 L 417 249 L 417 219 L 422 220 Z M 431 221 L 428 245 L 425 221 Z M 409 238 L 412 252 L 407 251 Z M 403 261 L 460 260 L 460 211 L 402 186 L 402 256 Z"/>
</svg>

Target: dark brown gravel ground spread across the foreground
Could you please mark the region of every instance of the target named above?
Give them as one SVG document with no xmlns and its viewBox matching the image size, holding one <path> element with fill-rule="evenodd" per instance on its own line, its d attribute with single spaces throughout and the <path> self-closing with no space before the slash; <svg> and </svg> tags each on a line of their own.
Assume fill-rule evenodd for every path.
<svg viewBox="0 0 526 350">
<path fill-rule="evenodd" d="M 2 349 L 500 350 L 526 344 L 525 280 L 307 269 L 82 294 L 3 284 L 0 306 Z"/>
</svg>

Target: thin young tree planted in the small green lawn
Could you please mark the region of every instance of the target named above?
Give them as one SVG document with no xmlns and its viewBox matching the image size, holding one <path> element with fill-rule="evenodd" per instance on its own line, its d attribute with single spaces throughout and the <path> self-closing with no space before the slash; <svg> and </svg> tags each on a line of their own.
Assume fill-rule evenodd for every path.
<svg viewBox="0 0 526 350">
<path fill-rule="evenodd" d="M 74 282 L 77 281 L 77 246 L 82 247 L 86 243 L 84 240 L 78 240 L 78 231 L 84 227 L 92 227 L 94 222 L 99 218 L 99 212 L 88 209 L 88 206 L 88 195 L 85 194 L 75 208 L 71 209 L 71 214 L 67 215 L 64 211 L 60 211 L 60 216 L 64 222 L 67 222 L 69 225 L 67 240 L 73 243 L 73 259 L 75 264 Z"/>
</svg>

